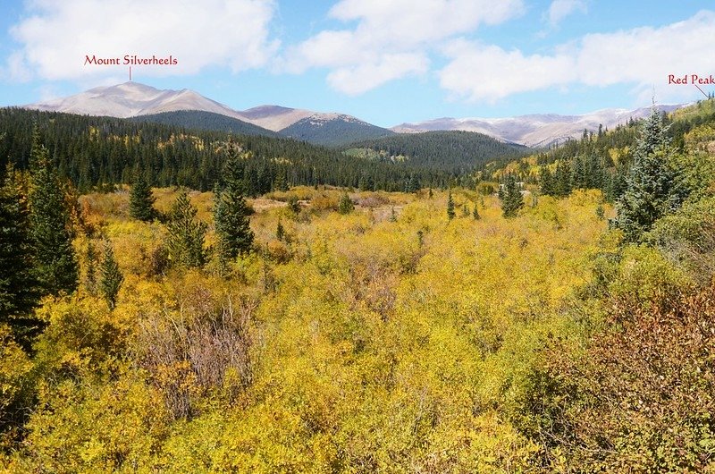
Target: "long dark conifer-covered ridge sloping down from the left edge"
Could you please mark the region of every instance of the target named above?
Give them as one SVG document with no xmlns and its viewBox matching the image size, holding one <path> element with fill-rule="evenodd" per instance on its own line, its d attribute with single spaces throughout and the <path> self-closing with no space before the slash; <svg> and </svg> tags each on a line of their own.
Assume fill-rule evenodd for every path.
<svg viewBox="0 0 715 474">
<path fill-rule="evenodd" d="M 46 147 L 62 177 L 80 190 L 130 183 L 137 172 L 147 174 L 154 186 L 183 185 L 210 190 L 223 166 L 222 144 L 229 134 L 173 125 L 0 109 L 0 160 L 19 168 L 29 164 L 30 132 L 37 123 Z M 412 164 L 374 163 L 347 157 L 337 150 L 287 138 L 231 135 L 251 153 L 245 163 L 251 194 L 272 190 L 275 183 L 357 186 L 369 179 L 375 189 L 402 190 L 413 176 L 425 186 L 445 186 L 452 178 L 447 169 L 427 169 Z"/>
</svg>

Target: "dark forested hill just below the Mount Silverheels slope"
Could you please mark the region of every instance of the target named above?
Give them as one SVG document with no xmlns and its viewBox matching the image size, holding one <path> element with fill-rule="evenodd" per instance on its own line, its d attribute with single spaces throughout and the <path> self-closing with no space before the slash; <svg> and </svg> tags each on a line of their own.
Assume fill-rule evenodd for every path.
<svg viewBox="0 0 715 474">
<path fill-rule="evenodd" d="M 264 137 L 281 136 L 275 131 L 266 130 L 253 123 L 201 110 L 177 110 L 175 112 L 162 112 L 161 114 L 139 115 L 131 117 L 129 120 L 132 122 L 161 123 L 192 130 L 228 131 L 240 135 L 260 135 Z"/>
</svg>

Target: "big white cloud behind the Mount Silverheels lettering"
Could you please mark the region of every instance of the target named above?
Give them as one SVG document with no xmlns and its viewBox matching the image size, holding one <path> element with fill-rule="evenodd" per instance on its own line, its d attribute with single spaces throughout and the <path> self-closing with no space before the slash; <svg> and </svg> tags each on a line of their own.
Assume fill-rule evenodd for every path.
<svg viewBox="0 0 715 474">
<path fill-rule="evenodd" d="M 83 65 L 85 55 L 173 55 L 176 66 L 138 66 L 143 76 L 233 72 L 261 67 L 278 47 L 269 38 L 273 0 L 33 0 L 11 28 L 21 44 L 7 65 L 15 80 L 87 80 L 126 66 Z"/>
</svg>

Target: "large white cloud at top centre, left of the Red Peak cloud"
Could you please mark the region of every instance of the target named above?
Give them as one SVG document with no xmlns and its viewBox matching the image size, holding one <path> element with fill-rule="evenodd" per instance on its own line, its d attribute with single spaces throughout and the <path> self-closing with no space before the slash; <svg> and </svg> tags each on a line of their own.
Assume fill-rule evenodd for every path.
<svg viewBox="0 0 715 474">
<path fill-rule="evenodd" d="M 328 68 L 332 89 L 359 94 L 426 72 L 428 51 L 445 39 L 507 21 L 523 10 L 522 0 L 342 0 L 329 16 L 357 25 L 324 30 L 290 47 L 279 70 Z"/>
</svg>

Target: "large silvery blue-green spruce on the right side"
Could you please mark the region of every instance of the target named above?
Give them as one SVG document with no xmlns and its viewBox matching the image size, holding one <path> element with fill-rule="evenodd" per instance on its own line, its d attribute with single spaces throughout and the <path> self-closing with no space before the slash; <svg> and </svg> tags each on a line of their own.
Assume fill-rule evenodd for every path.
<svg viewBox="0 0 715 474">
<path fill-rule="evenodd" d="M 638 241 L 660 216 L 677 209 L 686 198 L 669 165 L 674 149 L 666 131 L 653 107 L 636 142 L 626 190 L 616 203 L 618 215 L 613 224 L 623 231 L 626 241 Z"/>
</svg>

